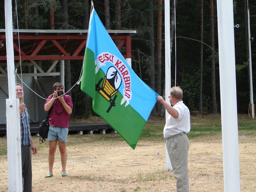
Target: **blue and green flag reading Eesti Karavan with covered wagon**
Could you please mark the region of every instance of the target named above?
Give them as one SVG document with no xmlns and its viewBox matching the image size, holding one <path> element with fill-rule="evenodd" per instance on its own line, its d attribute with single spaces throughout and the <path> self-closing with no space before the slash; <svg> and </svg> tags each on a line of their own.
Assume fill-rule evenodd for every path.
<svg viewBox="0 0 256 192">
<path fill-rule="evenodd" d="M 81 90 L 92 108 L 135 149 L 158 95 L 134 73 L 92 10 Z"/>
</svg>

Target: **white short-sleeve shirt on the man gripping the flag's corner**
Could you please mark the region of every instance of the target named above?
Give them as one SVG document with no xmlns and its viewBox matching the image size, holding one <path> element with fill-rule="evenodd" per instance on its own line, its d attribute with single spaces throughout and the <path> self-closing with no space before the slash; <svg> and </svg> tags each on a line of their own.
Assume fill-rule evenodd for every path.
<svg viewBox="0 0 256 192">
<path fill-rule="evenodd" d="M 173 108 L 179 112 L 179 116 L 174 118 L 169 115 L 164 126 L 164 138 L 171 137 L 181 132 L 188 133 L 190 131 L 190 112 L 188 107 L 179 101 Z"/>
</svg>

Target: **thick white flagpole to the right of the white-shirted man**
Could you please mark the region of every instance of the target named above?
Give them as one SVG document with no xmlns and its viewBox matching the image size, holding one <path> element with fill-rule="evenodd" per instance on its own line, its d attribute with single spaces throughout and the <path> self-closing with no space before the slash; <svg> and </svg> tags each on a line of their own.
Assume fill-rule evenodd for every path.
<svg viewBox="0 0 256 192">
<path fill-rule="evenodd" d="M 217 0 L 224 191 L 240 192 L 233 0 Z"/>
</svg>

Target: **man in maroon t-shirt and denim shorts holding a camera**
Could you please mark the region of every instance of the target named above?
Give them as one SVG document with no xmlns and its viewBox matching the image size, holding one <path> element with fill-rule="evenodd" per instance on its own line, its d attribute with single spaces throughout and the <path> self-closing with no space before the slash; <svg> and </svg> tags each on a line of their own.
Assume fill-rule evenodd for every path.
<svg viewBox="0 0 256 192">
<path fill-rule="evenodd" d="M 64 87 L 61 83 L 53 84 L 53 94 L 51 94 L 44 103 L 44 110 L 49 111 L 52 108 L 49 117 L 49 173 L 45 178 L 53 176 L 52 168 L 54 163 L 54 155 L 59 141 L 60 159 L 62 165 L 62 177 L 66 174 L 67 151 L 66 143 L 68 141 L 68 125 L 69 115 L 72 113 L 73 103 L 69 95 L 64 94 Z"/>
</svg>

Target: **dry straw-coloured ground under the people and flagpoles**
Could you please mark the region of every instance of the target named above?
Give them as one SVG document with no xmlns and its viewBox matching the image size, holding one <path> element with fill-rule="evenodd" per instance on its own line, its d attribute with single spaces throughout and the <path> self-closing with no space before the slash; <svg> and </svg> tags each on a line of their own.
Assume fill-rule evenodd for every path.
<svg viewBox="0 0 256 192">
<path fill-rule="evenodd" d="M 93 136 L 79 137 L 86 139 Z M 256 191 L 255 149 L 255 138 L 239 139 L 242 192 Z M 159 158 L 156 157 L 156 151 L 160 151 Z M 68 177 L 61 177 L 58 151 L 52 178 L 44 178 L 48 173 L 48 149 L 42 148 L 32 157 L 33 191 L 176 191 L 172 172 L 165 172 L 164 141 L 139 140 L 133 150 L 125 141 L 103 140 L 76 146 L 67 145 L 67 153 Z M 214 140 L 190 140 L 188 167 L 189 191 L 224 191 L 221 137 Z M 7 156 L 0 156 L 0 172 L 0 191 L 8 191 Z"/>
</svg>

